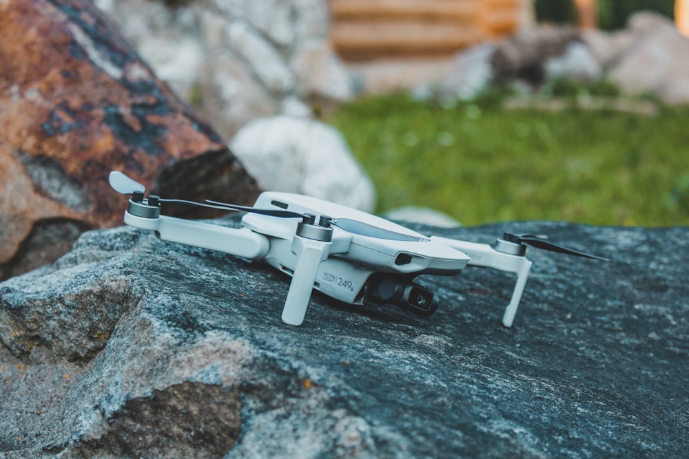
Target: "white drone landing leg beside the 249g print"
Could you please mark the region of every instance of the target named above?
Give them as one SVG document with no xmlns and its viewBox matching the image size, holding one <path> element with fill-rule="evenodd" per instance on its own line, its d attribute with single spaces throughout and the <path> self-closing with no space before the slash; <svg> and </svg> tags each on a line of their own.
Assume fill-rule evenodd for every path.
<svg viewBox="0 0 689 459">
<path fill-rule="evenodd" d="M 318 266 L 330 254 L 331 242 L 295 236 L 292 239 L 292 252 L 297 256 L 285 308 L 282 309 L 282 321 L 289 325 L 301 325 L 309 307 L 311 290 L 316 281 Z"/>
</svg>

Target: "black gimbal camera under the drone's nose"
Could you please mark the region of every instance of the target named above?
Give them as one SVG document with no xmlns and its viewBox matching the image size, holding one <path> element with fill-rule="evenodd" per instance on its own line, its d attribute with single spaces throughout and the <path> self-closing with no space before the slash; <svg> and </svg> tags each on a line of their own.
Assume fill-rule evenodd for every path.
<svg viewBox="0 0 689 459">
<path fill-rule="evenodd" d="M 438 309 L 438 299 L 431 290 L 400 277 L 379 277 L 370 291 L 376 303 L 398 306 L 420 316 L 430 316 Z"/>
</svg>

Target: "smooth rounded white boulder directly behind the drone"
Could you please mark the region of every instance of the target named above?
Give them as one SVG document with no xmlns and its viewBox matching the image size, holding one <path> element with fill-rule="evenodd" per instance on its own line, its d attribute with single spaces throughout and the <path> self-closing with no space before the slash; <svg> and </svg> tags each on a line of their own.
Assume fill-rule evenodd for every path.
<svg viewBox="0 0 689 459">
<path fill-rule="evenodd" d="M 249 122 L 229 144 L 258 184 L 373 211 L 376 191 L 347 142 L 325 123 L 273 116 Z"/>
</svg>

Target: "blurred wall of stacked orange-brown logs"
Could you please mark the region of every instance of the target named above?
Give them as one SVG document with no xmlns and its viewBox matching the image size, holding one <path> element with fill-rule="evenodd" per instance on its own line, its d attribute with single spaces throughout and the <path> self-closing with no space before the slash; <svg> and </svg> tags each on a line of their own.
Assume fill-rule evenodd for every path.
<svg viewBox="0 0 689 459">
<path fill-rule="evenodd" d="M 520 27 L 525 0 L 330 0 L 331 40 L 347 61 L 446 56 Z"/>
</svg>

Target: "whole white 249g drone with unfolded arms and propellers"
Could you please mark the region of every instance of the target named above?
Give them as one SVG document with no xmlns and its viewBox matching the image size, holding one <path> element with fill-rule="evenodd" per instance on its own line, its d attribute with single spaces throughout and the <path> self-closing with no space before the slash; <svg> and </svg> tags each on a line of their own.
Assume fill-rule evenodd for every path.
<svg viewBox="0 0 689 459">
<path fill-rule="evenodd" d="M 531 269 L 526 244 L 568 255 L 603 259 L 547 242 L 543 237 L 505 233 L 494 246 L 426 237 L 369 213 L 308 196 L 261 193 L 253 207 L 145 197 L 145 187 L 112 171 L 110 186 L 132 195 L 125 223 L 155 231 L 160 239 L 261 259 L 292 277 L 282 321 L 301 325 L 311 290 L 345 303 L 392 304 L 421 316 L 438 308 L 438 298 L 413 279 L 423 274 L 455 275 L 464 266 L 515 273 L 517 283 L 502 323 L 511 327 Z M 244 211 L 242 228 L 161 215 L 161 204 Z"/>
</svg>

